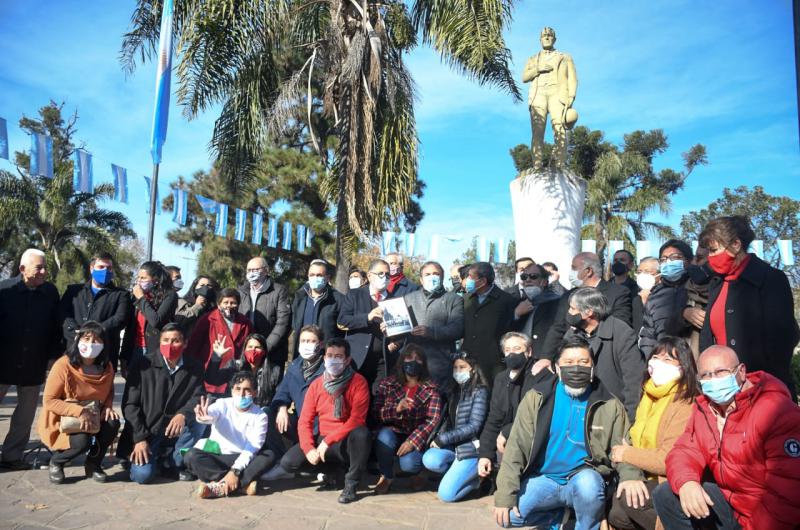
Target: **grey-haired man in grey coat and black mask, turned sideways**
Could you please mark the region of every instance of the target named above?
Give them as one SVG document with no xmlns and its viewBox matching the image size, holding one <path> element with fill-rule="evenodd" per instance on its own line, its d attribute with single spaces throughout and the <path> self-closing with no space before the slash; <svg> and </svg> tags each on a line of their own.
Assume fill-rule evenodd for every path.
<svg viewBox="0 0 800 530">
<path fill-rule="evenodd" d="M 573 291 L 566 319 L 570 329 L 564 340 L 582 339 L 589 343 L 597 378 L 612 394 L 619 396 L 632 420 L 639 405 L 642 374 L 646 368 L 633 330 L 608 313 L 608 300 L 591 287 Z"/>
</svg>

